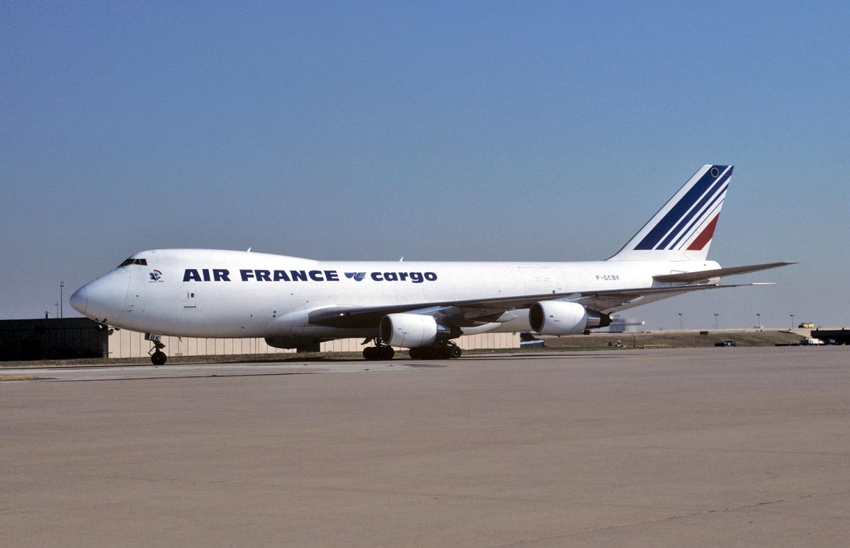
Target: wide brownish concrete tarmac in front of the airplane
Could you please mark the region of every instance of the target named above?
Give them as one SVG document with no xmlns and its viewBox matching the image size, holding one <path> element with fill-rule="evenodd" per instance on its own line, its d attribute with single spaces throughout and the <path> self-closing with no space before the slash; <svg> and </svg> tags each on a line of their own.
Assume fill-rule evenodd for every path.
<svg viewBox="0 0 850 548">
<path fill-rule="evenodd" d="M 2 545 L 850 539 L 850 347 L 31 374 Z"/>
</svg>

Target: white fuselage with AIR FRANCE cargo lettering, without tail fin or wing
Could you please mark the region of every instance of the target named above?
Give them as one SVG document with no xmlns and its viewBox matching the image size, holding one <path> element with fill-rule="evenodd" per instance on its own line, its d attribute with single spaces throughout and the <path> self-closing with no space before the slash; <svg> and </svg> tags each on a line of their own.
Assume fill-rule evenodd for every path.
<svg viewBox="0 0 850 548">
<path fill-rule="evenodd" d="M 321 308 L 452 302 L 668 286 L 654 275 L 719 268 L 713 261 L 423 263 L 314 261 L 247 251 L 153 250 L 83 286 L 82 314 L 174 336 L 341 338 L 377 329 L 311 325 Z M 645 304 L 663 297 L 645 297 Z M 629 308 L 623 305 L 617 309 Z M 529 330 L 527 310 L 463 332 Z"/>
</svg>

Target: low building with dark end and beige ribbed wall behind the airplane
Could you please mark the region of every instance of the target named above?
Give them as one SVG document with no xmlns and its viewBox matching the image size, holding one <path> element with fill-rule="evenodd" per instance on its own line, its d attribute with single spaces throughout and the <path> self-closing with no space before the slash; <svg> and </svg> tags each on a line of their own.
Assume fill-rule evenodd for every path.
<svg viewBox="0 0 850 548">
<path fill-rule="evenodd" d="M 162 336 L 169 357 L 231 356 L 242 354 L 295 353 L 295 349 L 275 348 L 263 338 L 201 338 Z M 320 352 L 363 350 L 362 339 L 322 342 Z M 519 333 L 481 333 L 461 336 L 457 344 L 464 350 L 479 348 L 519 348 Z M 6 319 L 0 320 L 0 361 L 75 358 L 146 358 L 152 347 L 144 333 L 105 329 L 93 319 Z"/>
</svg>

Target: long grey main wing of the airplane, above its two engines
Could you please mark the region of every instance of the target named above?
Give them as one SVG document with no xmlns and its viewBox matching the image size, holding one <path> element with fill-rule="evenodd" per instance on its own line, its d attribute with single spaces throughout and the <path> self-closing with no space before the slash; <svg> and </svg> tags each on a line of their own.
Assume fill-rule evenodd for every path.
<svg viewBox="0 0 850 548">
<path fill-rule="evenodd" d="M 452 317 L 462 316 L 465 319 L 474 319 L 475 311 L 479 311 L 479 318 L 487 317 L 493 321 L 494 313 L 507 312 L 519 308 L 530 308 L 532 304 L 539 301 L 553 301 L 556 299 L 567 299 L 581 302 L 588 297 L 605 296 L 612 299 L 620 297 L 622 302 L 631 301 L 637 297 L 647 295 L 659 295 L 664 293 L 688 293 L 690 291 L 701 291 L 706 289 L 727 289 L 730 287 L 742 287 L 745 285 L 763 284 L 702 284 L 702 285 L 672 285 L 667 287 L 641 287 L 638 289 L 611 289 L 599 291 L 570 291 L 568 293 L 542 293 L 537 295 L 519 295 L 514 297 L 491 297 L 485 299 L 467 299 L 461 301 L 435 301 L 416 302 L 411 304 L 395 304 L 379 307 L 358 306 L 336 306 L 316 308 L 309 312 L 308 321 L 311 325 L 341 328 L 371 328 L 381 323 L 383 316 L 387 314 L 423 314 L 428 316 Z M 473 314 L 470 314 L 473 313 Z"/>
</svg>

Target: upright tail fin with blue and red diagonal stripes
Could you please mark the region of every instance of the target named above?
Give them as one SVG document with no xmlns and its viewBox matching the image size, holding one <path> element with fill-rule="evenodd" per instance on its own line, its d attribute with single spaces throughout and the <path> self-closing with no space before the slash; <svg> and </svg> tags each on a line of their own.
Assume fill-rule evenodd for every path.
<svg viewBox="0 0 850 548">
<path fill-rule="evenodd" d="M 609 261 L 705 260 L 732 169 L 700 167 Z"/>
</svg>

